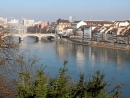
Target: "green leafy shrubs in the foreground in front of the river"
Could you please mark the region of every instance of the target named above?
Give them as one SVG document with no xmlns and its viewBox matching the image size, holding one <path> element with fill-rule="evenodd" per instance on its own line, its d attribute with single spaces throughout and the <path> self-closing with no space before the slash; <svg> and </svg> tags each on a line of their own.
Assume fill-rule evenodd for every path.
<svg viewBox="0 0 130 98">
<path fill-rule="evenodd" d="M 79 81 L 76 82 L 67 75 L 66 64 L 67 61 L 64 61 L 58 75 L 49 79 L 43 70 L 37 71 L 34 80 L 30 73 L 20 73 L 18 98 L 119 98 L 119 85 L 107 92 L 108 84 L 104 80 L 104 73 L 96 71 L 87 79 L 80 73 Z"/>
</svg>

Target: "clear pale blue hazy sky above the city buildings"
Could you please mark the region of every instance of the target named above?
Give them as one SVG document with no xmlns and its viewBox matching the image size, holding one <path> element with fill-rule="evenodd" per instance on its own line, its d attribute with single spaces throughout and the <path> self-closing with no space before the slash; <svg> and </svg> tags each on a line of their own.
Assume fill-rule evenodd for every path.
<svg viewBox="0 0 130 98">
<path fill-rule="evenodd" d="M 128 20 L 130 0 L 0 0 L 0 17 L 51 21 Z"/>
</svg>

